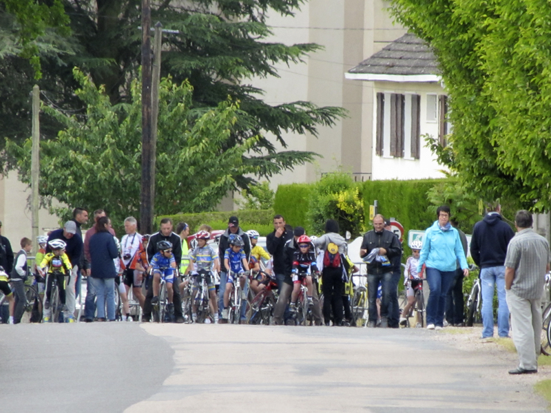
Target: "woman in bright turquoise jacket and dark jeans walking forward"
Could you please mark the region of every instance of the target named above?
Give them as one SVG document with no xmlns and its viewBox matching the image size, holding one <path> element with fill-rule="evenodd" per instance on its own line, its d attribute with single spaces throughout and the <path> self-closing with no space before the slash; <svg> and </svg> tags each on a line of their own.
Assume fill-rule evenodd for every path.
<svg viewBox="0 0 551 413">
<path fill-rule="evenodd" d="M 455 277 L 456 264 L 465 277 L 469 271 L 459 232 L 450 224 L 450 207 L 443 205 L 436 210 L 438 220 L 430 226 L 423 240 L 417 273 L 426 265 L 426 279 L 430 295 L 426 306 L 426 328 L 441 330 L 444 326 L 446 294 Z"/>
</svg>

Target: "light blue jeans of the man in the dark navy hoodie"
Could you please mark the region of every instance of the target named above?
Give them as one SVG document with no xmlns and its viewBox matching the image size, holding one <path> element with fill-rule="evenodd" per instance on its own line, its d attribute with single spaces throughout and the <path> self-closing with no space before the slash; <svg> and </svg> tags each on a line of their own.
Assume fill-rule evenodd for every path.
<svg viewBox="0 0 551 413">
<path fill-rule="evenodd" d="M 509 335 L 509 308 L 505 298 L 505 266 L 482 268 L 480 271 L 482 287 L 482 337 L 494 335 L 494 285 L 497 287 L 497 334 L 499 337 Z"/>
</svg>

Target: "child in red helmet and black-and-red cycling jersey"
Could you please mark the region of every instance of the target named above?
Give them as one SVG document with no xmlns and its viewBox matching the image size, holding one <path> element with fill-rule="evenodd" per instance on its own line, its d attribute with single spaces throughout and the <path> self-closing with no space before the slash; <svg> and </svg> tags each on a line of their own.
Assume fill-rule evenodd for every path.
<svg viewBox="0 0 551 413">
<path fill-rule="evenodd" d="M 300 286 L 304 277 L 306 277 L 306 295 L 308 306 L 312 307 L 312 276 L 311 273 L 318 273 L 318 265 L 315 262 L 315 253 L 310 251 L 313 249 L 313 244 L 308 235 L 300 235 L 297 240 L 298 251 L 293 253 L 293 292 L 291 293 L 291 306 L 289 310 L 295 312 L 297 310 L 297 298 L 300 293 Z"/>
</svg>

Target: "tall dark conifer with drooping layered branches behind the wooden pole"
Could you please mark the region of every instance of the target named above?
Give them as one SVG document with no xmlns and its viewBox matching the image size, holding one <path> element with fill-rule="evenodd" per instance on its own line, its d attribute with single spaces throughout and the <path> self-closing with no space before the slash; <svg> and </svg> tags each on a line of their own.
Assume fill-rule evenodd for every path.
<svg viewBox="0 0 551 413">
<path fill-rule="evenodd" d="M 66 65 L 62 66 L 62 73 L 76 65 L 90 72 L 96 85 L 105 86 L 112 103 L 128 101 L 129 85 L 137 76 L 140 61 L 140 3 L 64 0 L 73 32 L 72 54 L 60 54 L 57 60 L 45 59 L 43 72 L 48 71 L 46 65 L 51 61 L 55 77 L 54 83 L 43 85 L 46 93 L 56 96 L 54 90 L 74 90 L 74 80 L 66 73 L 56 72 L 60 65 L 55 65 L 61 61 Z M 318 127 L 333 125 L 344 113 L 338 107 L 316 107 L 303 101 L 268 105 L 262 100 L 262 90 L 247 84 L 251 76 L 277 76 L 275 63 L 298 63 L 307 53 L 319 49 L 311 43 L 284 45 L 266 40 L 271 33 L 266 24 L 267 13 L 291 18 L 301 3 L 302 0 L 167 0 L 157 1 L 152 7 L 154 22 L 178 31 L 165 35 L 162 76 L 170 74 L 176 83 L 189 80 L 194 88 L 192 105 L 197 116 L 228 96 L 240 102 L 236 127 L 225 149 L 257 136 L 256 145 L 243 155 L 243 162 L 254 167 L 258 177 L 268 178 L 315 156 L 306 151 L 276 150 L 276 143 L 287 147 L 284 132 L 316 135 Z M 65 109 L 81 107 L 70 96 L 59 98 L 56 105 Z M 24 116 L 5 120 L 12 125 L 9 129 L 16 131 L 8 138 L 26 137 L 26 130 L 19 123 L 21 118 Z M 236 176 L 238 187 L 247 187 L 251 182 L 251 176 Z"/>
</svg>

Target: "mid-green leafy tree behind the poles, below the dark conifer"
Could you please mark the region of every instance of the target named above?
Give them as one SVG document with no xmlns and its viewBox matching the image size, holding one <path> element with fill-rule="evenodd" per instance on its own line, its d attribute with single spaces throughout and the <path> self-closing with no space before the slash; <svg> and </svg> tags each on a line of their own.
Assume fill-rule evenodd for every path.
<svg viewBox="0 0 551 413">
<path fill-rule="evenodd" d="M 79 70 L 76 94 L 85 115 L 67 116 L 43 109 L 65 125 L 56 139 L 41 142 L 40 194 L 69 207 L 106 209 L 114 221 L 139 217 L 141 182 L 141 84 L 132 83 L 132 102 L 112 105 Z M 224 149 L 238 118 L 237 103 L 227 100 L 197 116 L 191 109 L 193 88 L 164 78 L 160 85 L 155 207 L 158 214 L 211 211 L 233 187 L 236 176 L 255 173 L 242 155 L 256 144 L 251 137 Z M 30 140 L 7 149 L 19 159 L 24 182 L 30 181 Z M 63 215 L 62 211 L 56 211 Z"/>
</svg>

